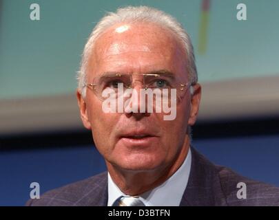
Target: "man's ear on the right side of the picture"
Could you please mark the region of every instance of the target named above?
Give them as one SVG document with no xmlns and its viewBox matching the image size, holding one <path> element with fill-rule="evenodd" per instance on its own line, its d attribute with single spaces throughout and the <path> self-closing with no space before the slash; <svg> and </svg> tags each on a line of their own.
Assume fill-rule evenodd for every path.
<svg viewBox="0 0 279 220">
<path fill-rule="evenodd" d="M 191 96 L 191 109 L 188 124 L 190 126 L 194 125 L 196 118 L 198 117 L 198 109 L 200 107 L 200 98 L 201 98 L 201 87 L 200 84 L 196 83 L 193 85 L 193 94 Z"/>
</svg>

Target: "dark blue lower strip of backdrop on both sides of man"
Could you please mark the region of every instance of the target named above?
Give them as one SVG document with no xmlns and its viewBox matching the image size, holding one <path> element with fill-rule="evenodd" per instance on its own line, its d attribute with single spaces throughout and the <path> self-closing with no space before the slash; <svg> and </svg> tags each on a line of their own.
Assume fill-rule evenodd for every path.
<svg viewBox="0 0 279 220">
<path fill-rule="evenodd" d="M 279 135 L 200 139 L 193 144 L 216 164 L 279 186 Z M 93 145 L 2 152 L 0 206 L 23 206 L 33 181 L 43 193 L 103 170 L 105 162 Z"/>
</svg>

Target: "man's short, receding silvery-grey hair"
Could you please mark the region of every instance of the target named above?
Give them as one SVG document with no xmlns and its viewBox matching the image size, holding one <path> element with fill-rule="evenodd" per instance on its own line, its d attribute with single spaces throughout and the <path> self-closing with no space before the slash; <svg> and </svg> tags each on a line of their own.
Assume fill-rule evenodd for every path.
<svg viewBox="0 0 279 220">
<path fill-rule="evenodd" d="M 118 10 L 115 13 L 107 13 L 107 15 L 105 15 L 105 17 L 103 17 L 101 21 L 99 21 L 99 23 L 96 24 L 95 28 L 90 34 L 90 37 L 83 50 L 81 68 L 77 75 L 79 83 L 78 89 L 79 92 L 81 92 L 83 98 L 85 98 L 86 95 L 85 85 L 87 84 L 87 64 L 96 39 L 98 39 L 98 37 L 105 30 L 107 30 L 107 28 L 110 28 L 113 25 L 116 25 L 117 23 L 135 23 L 138 21 L 158 24 L 161 27 L 167 28 L 178 37 L 178 39 L 182 42 L 183 50 L 187 55 L 187 61 L 189 63 L 189 67 L 187 69 L 187 71 L 189 72 L 189 82 L 192 85 L 197 83 L 198 74 L 196 71 L 194 49 L 189 35 L 184 30 L 183 26 L 180 23 L 178 23 L 178 21 L 176 21 L 174 17 L 161 10 L 157 10 L 156 8 L 150 8 L 147 6 L 128 6 L 125 8 L 118 8 Z"/>
</svg>

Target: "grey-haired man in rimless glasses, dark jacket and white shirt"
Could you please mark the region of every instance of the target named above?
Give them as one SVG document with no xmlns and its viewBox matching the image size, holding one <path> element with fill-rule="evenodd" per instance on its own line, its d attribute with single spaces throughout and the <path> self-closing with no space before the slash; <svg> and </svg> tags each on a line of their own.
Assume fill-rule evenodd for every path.
<svg viewBox="0 0 279 220">
<path fill-rule="evenodd" d="M 141 6 L 103 17 L 85 45 L 77 98 L 108 172 L 28 205 L 279 205 L 278 188 L 216 166 L 190 146 L 197 79 L 189 36 L 169 14 Z"/>
</svg>

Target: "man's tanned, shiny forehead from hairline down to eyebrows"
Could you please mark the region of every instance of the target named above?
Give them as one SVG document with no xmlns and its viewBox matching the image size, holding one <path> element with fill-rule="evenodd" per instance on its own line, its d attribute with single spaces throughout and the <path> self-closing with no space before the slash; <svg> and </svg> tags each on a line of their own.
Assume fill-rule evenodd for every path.
<svg viewBox="0 0 279 220">
<path fill-rule="evenodd" d="M 178 72 L 185 54 L 176 36 L 152 23 L 120 23 L 96 40 L 89 62 L 89 74 L 103 72 L 138 73 L 166 69 Z"/>
</svg>

